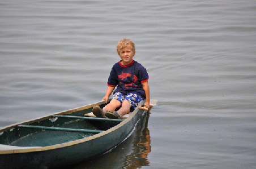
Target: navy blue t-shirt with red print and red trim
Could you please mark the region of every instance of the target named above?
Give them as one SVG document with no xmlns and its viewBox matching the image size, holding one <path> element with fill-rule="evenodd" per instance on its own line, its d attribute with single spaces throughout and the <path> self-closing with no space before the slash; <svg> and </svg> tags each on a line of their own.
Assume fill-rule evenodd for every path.
<svg viewBox="0 0 256 169">
<path fill-rule="evenodd" d="M 109 78 L 108 86 L 116 87 L 116 92 L 121 92 L 123 95 L 127 95 L 130 92 L 146 98 L 145 91 L 142 87 L 142 82 L 148 80 L 147 70 L 135 60 L 129 65 L 122 65 L 121 61 L 114 64 Z"/>
</svg>

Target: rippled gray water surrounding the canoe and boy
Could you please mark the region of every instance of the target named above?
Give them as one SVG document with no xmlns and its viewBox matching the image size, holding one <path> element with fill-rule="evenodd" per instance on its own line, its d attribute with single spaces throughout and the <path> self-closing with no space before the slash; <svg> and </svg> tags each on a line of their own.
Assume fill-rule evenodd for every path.
<svg viewBox="0 0 256 169">
<path fill-rule="evenodd" d="M 75 168 L 256 168 L 255 9 L 251 0 L 2 0 L 0 127 L 101 100 L 117 42 L 129 38 L 158 100 L 150 135 Z"/>
</svg>

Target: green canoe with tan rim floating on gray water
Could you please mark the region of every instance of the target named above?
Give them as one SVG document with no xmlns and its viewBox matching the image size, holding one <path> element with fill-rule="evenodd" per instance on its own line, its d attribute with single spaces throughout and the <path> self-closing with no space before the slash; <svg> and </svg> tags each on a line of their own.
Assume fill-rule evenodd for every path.
<svg viewBox="0 0 256 169">
<path fill-rule="evenodd" d="M 126 119 L 85 117 L 95 105 L 105 103 L 0 128 L 0 168 L 54 168 L 95 158 L 129 137 L 146 112 L 138 106 Z"/>
</svg>

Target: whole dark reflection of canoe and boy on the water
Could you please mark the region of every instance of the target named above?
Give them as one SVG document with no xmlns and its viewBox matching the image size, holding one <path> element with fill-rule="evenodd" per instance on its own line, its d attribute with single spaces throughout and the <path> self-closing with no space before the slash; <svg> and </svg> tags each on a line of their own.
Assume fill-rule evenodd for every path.
<svg viewBox="0 0 256 169">
<path fill-rule="evenodd" d="M 148 166 L 148 153 L 151 152 L 150 131 L 148 130 L 149 114 L 138 122 L 133 134 L 111 152 L 70 168 L 140 168 Z"/>
</svg>

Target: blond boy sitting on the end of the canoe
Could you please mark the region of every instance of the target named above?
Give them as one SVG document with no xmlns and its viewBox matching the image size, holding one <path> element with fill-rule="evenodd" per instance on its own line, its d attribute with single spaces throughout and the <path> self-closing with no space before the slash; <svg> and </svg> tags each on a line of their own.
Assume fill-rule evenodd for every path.
<svg viewBox="0 0 256 169">
<path fill-rule="evenodd" d="M 150 108 L 150 87 L 148 86 L 147 70 L 133 60 L 135 45 L 130 39 L 122 39 L 117 44 L 117 54 L 121 60 L 114 64 L 108 79 L 108 89 L 102 100 L 107 103 L 109 96 L 114 95 L 103 109 L 95 106 L 92 113 L 96 117 L 121 118 L 130 112 L 131 106 L 136 108 L 139 102 L 146 99 L 145 108 Z M 121 108 L 115 111 L 116 108 Z"/>
</svg>

